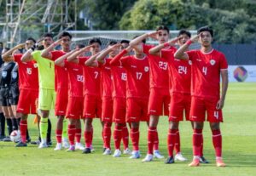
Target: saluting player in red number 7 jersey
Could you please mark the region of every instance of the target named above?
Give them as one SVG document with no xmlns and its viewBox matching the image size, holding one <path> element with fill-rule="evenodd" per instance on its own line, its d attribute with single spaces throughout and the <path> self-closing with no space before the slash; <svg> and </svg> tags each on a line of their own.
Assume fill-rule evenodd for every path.
<svg viewBox="0 0 256 176">
<path fill-rule="evenodd" d="M 101 51 L 102 42 L 98 38 L 92 38 L 89 41 L 90 50 L 88 47 L 80 48 L 78 52 L 67 57 L 68 61 L 72 61 L 82 65 L 84 74 L 84 141 L 85 149 L 84 154 L 91 153 L 92 139 L 93 139 L 93 126 L 92 121 L 94 117 L 101 118 L 102 116 L 102 99 L 101 99 L 101 71 L 98 67 L 85 65 L 85 63 L 93 58 L 92 63 L 95 62 L 97 54 Z M 84 56 L 89 52 L 91 57 Z"/>
</svg>

